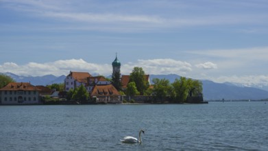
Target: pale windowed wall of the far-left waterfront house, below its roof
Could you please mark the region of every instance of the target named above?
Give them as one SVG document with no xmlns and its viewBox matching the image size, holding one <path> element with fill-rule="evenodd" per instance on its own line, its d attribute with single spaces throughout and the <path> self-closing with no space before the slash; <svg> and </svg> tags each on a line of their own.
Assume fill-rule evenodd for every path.
<svg viewBox="0 0 268 151">
<path fill-rule="evenodd" d="M 38 91 L 0 91 L 1 104 L 39 104 Z"/>
</svg>

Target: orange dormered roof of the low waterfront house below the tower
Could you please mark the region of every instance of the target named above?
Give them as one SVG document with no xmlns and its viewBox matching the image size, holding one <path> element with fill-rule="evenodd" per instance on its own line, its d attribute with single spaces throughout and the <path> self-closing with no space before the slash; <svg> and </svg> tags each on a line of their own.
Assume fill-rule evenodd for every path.
<svg viewBox="0 0 268 151">
<path fill-rule="evenodd" d="M 91 96 L 118 96 L 120 95 L 117 89 L 112 84 L 96 85 L 91 93 Z"/>
</svg>

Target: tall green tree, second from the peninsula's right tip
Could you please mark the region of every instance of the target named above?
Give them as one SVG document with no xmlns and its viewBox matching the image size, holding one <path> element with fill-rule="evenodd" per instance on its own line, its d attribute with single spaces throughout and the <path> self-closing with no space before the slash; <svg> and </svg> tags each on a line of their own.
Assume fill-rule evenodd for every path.
<svg viewBox="0 0 268 151">
<path fill-rule="evenodd" d="M 188 84 L 187 79 L 185 77 L 180 77 L 175 79 L 175 81 L 171 84 L 173 86 L 173 96 L 176 102 L 186 102 L 188 97 Z"/>
</svg>

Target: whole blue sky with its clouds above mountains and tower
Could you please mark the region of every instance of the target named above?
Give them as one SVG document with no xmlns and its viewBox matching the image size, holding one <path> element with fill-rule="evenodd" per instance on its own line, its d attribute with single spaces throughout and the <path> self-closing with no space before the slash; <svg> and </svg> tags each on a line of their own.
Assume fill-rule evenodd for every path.
<svg viewBox="0 0 268 151">
<path fill-rule="evenodd" d="M 267 0 L 0 0 L 0 73 L 142 67 L 268 85 Z"/>
</svg>

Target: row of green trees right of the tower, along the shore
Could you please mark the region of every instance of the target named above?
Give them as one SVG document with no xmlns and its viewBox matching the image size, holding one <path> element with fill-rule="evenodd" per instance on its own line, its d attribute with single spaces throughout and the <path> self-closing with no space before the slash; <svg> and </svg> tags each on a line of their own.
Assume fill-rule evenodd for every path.
<svg viewBox="0 0 268 151">
<path fill-rule="evenodd" d="M 121 83 L 119 84 L 119 75 L 112 77 L 112 84 L 119 90 L 121 89 Z M 202 82 L 199 80 L 193 80 L 191 78 L 180 77 L 176 78 L 173 83 L 167 79 L 154 78 L 152 80 L 153 85 L 149 86 L 149 82 L 146 79 L 145 71 L 141 67 L 134 67 L 132 73 L 130 73 L 130 82 L 127 84 L 127 89 L 124 91 L 126 95 L 153 95 L 156 100 L 171 102 L 186 102 L 187 97 L 194 97 L 202 95 Z M 116 82 L 113 82 L 116 81 Z"/>
</svg>

